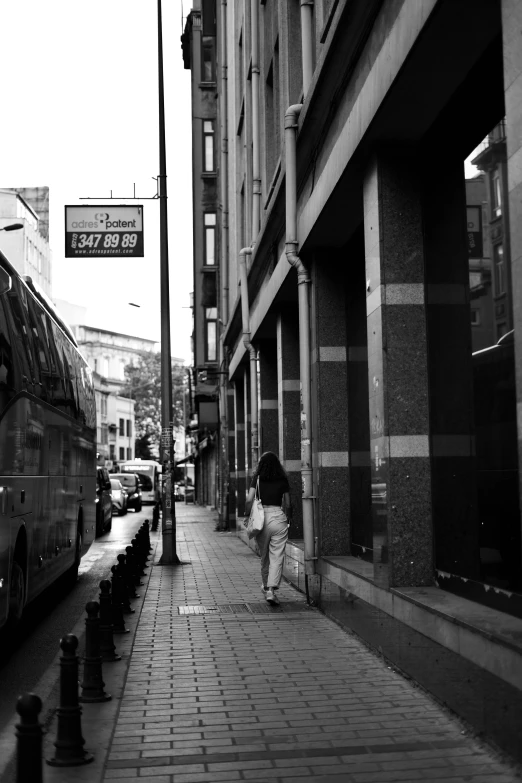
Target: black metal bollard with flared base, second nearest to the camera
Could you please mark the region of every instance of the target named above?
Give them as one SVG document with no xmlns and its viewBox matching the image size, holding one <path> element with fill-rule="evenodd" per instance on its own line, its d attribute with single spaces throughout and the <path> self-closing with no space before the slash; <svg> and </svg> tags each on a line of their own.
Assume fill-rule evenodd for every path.
<svg viewBox="0 0 522 783">
<path fill-rule="evenodd" d="M 63 655 L 60 658 L 60 706 L 56 711 L 56 753 L 52 759 L 46 759 L 46 762 L 52 767 L 79 767 L 81 764 L 89 764 L 93 757 L 83 748 L 85 740 L 82 737 L 82 708 L 78 704 L 78 639 L 68 633 L 60 641 L 60 647 Z"/>
</svg>

